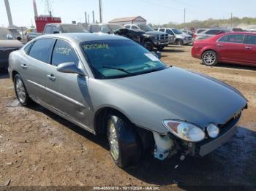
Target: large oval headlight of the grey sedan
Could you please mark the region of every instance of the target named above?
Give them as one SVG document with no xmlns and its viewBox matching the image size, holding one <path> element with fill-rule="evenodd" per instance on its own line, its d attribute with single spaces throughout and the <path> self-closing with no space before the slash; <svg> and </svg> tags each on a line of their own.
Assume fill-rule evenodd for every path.
<svg viewBox="0 0 256 191">
<path fill-rule="evenodd" d="M 163 124 L 165 128 L 170 130 L 170 133 L 177 136 L 184 141 L 198 142 L 202 141 L 206 137 L 206 133 L 189 122 L 182 122 L 178 120 L 164 120 Z"/>
</svg>

